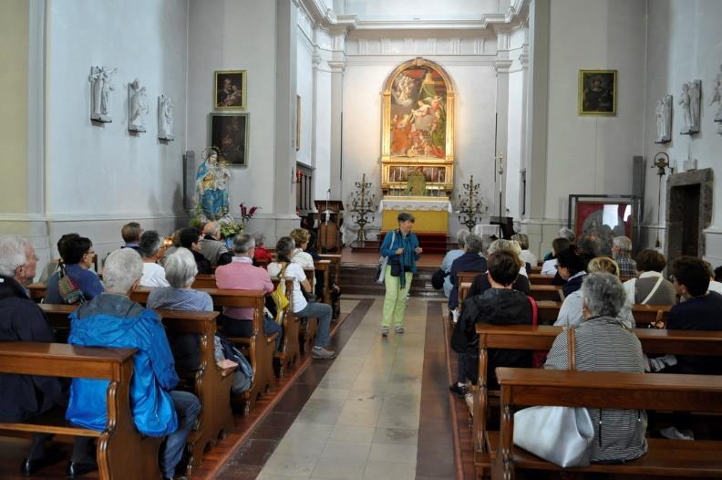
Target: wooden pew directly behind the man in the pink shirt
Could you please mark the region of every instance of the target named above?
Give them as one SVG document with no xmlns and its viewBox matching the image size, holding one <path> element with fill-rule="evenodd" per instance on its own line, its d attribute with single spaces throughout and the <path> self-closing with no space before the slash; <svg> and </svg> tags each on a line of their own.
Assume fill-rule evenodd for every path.
<svg viewBox="0 0 722 480">
<path fill-rule="evenodd" d="M 262 395 L 273 381 L 273 351 L 278 335 L 266 337 L 263 331 L 263 307 L 265 294 L 261 290 L 228 290 L 222 288 L 198 288 L 208 293 L 213 299 L 213 307 L 249 307 L 253 308 L 253 336 L 230 337 L 234 343 L 242 346 L 248 360 L 253 365 L 253 383 L 251 389 L 242 394 L 243 412 L 248 414 L 253 409 L 259 395 Z M 130 298 L 141 305 L 148 302 L 152 291 L 148 287 L 137 287 Z"/>
</svg>

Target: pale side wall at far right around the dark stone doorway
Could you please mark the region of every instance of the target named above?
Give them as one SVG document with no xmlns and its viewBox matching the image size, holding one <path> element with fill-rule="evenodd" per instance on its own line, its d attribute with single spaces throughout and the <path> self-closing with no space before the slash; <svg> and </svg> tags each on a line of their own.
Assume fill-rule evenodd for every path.
<svg viewBox="0 0 722 480">
<path fill-rule="evenodd" d="M 720 152 L 722 136 L 714 123 L 717 104 L 709 106 L 714 93 L 714 79 L 722 63 L 722 3 L 715 0 L 655 0 L 648 4 L 647 78 L 645 109 L 645 157 L 651 164 L 658 151 L 666 151 L 677 168 L 687 158 L 697 159 L 698 168 L 715 168 L 714 212 L 712 227 L 707 231 L 706 256 L 715 266 L 722 264 L 722 170 Z M 681 135 L 682 110 L 677 101 L 686 81 L 702 80 L 702 108 L 700 132 L 694 136 Z M 664 145 L 654 143 L 656 137 L 656 101 L 671 94 L 675 103 L 672 120 L 672 141 Z M 657 176 L 648 169 L 645 191 L 646 224 L 656 224 Z M 665 184 L 660 205 L 661 221 L 665 223 Z M 654 242 L 654 229 L 650 231 Z M 664 241 L 664 232 L 660 233 Z"/>
</svg>

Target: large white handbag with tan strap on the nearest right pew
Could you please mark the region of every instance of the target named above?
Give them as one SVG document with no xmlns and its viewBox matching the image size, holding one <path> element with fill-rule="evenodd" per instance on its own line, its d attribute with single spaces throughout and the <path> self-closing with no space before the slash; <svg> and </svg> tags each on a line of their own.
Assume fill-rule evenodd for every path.
<svg viewBox="0 0 722 480">
<path fill-rule="evenodd" d="M 574 330 L 569 330 L 570 370 L 575 370 Z M 514 413 L 514 444 L 561 467 L 587 466 L 594 425 L 585 408 L 530 407 Z"/>
</svg>

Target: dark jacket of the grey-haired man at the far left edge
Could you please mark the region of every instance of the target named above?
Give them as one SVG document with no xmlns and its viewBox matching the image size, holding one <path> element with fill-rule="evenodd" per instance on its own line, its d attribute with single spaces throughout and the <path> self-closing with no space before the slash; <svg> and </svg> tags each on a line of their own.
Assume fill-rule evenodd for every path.
<svg viewBox="0 0 722 480">
<path fill-rule="evenodd" d="M 0 341 L 55 341 L 43 310 L 9 277 L 0 277 Z M 55 377 L 0 374 L 0 422 L 22 422 L 66 403 Z"/>
</svg>

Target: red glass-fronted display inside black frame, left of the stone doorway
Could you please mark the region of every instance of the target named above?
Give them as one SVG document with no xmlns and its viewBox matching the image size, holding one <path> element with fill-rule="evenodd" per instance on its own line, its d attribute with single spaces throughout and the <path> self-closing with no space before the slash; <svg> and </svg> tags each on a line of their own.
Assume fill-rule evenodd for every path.
<svg viewBox="0 0 722 480">
<path fill-rule="evenodd" d="M 574 218 L 574 233 L 577 238 L 581 235 L 596 236 L 604 255 L 612 254 L 612 240 L 615 236 L 634 238 L 632 203 L 580 200 L 576 203 Z"/>
</svg>

